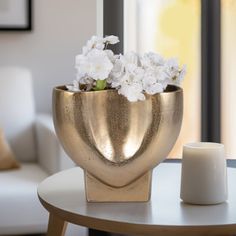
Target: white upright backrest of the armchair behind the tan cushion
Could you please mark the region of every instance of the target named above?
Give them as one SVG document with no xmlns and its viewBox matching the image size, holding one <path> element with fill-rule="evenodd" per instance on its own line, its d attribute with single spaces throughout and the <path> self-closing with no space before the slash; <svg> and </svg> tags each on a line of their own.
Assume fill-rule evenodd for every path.
<svg viewBox="0 0 236 236">
<path fill-rule="evenodd" d="M 0 67 L 0 124 L 19 161 L 36 160 L 35 107 L 31 73 Z"/>
</svg>

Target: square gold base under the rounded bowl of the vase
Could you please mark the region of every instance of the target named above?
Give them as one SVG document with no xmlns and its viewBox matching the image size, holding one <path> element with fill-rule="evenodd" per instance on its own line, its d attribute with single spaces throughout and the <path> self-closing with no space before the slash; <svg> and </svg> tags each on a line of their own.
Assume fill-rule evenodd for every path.
<svg viewBox="0 0 236 236">
<path fill-rule="evenodd" d="M 150 200 L 152 171 L 124 187 L 111 187 L 85 171 L 88 202 L 147 202 Z"/>
</svg>

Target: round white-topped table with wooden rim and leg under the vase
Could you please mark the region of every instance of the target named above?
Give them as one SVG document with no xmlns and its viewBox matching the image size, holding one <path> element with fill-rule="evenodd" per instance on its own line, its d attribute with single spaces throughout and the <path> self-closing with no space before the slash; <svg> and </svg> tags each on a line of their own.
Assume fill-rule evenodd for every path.
<svg viewBox="0 0 236 236">
<path fill-rule="evenodd" d="M 50 213 L 48 235 L 63 235 L 66 222 L 138 235 L 236 234 L 236 169 L 228 168 L 228 201 L 209 206 L 181 201 L 180 174 L 178 163 L 156 167 L 151 200 L 146 203 L 88 203 L 79 167 L 52 175 L 38 187 L 39 199 Z"/>
</svg>

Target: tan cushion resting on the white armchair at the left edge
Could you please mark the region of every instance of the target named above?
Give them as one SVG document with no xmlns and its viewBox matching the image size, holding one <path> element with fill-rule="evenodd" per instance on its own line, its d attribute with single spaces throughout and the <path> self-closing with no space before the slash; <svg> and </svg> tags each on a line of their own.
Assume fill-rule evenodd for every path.
<svg viewBox="0 0 236 236">
<path fill-rule="evenodd" d="M 0 170 L 14 169 L 19 166 L 4 137 L 3 131 L 0 129 Z"/>
</svg>

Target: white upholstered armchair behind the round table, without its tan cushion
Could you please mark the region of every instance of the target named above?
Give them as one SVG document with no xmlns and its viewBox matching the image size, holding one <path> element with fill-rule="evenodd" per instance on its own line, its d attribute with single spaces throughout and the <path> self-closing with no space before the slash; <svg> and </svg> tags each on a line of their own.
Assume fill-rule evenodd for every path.
<svg viewBox="0 0 236 236">
<path fill-rule="evenodd" d="M 21 163 L 20 169 L 0 171 L 0 235 L 46 232 L 48 215 L 37 186 L 73 163 L 59 145 L 52 118 L 35 114 L 26 69 L 0 68 L 0 127 Z"/>
</svg>

